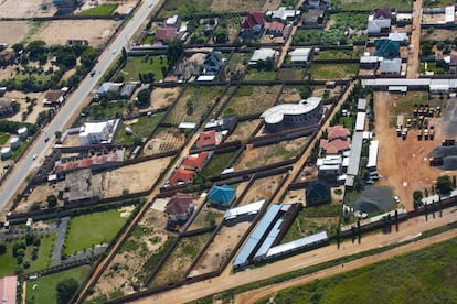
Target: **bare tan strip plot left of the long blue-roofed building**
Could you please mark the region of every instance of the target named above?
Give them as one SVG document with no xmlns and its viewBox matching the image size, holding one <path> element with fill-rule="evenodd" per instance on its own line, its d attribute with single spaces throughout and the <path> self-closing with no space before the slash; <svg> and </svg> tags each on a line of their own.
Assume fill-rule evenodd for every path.
<svg viewBox="0 0 457 304">
<path fill-rule="evenodd" d="M 190 272 L 190 276 L 217 270 L 226 261 L 249 226 L 249 221 L 243 221 L 235 226 L 223 226 Z"/>
</svg>

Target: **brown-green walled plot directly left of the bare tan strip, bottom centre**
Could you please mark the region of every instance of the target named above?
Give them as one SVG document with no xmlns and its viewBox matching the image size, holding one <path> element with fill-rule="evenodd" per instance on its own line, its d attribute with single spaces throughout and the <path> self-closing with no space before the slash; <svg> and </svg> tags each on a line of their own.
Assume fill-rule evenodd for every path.
<svg viewBox="0 0 457 304">
<path fill-rule="evenodd" d="M 180 239 L 173 252 L 152 279 L 149 287 L 166 285 L 183 279 L 185 270 L 188 270 L 210 236 L 211 232 L 206 232 Z"/>
</svg>

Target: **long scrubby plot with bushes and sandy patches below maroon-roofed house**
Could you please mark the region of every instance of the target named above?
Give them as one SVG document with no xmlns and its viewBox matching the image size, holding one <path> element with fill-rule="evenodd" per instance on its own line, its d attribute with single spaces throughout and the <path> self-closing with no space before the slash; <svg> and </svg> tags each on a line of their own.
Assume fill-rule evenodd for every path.
<svg viewBox="0 0 457 304">
<path fill-rule="evenodd" d="M 162 213 L 148 209 L 97 281 L 89 300 L 115 292 L 131 294 L 138 291 L 173 240 L 173 237 L 164 230 L 166 225 L 167 218 Z"/>
</svg>

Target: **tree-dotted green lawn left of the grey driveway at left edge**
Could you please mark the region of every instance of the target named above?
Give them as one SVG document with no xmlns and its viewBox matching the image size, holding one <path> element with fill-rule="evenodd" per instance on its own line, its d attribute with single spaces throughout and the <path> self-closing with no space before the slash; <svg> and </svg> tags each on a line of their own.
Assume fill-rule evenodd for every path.
<svg viewBox="0 0 457 304">
<path fill-rule="evenodd" d="M 25 269 L 25 272 L 32 272 L 38 270 L 43 270 L 50 267 L 51 264 L 51 254 L 52 248 L 54 246 L 55 235 L 47 235 L 40 238 L 40 247 L 38 251 L 36 260 L 32 260 L 32 250 L 33 246 L 28 246 L 25 248 L 24 261 L 30 262 L 30 268 Z M 14 269 L 18 265 L 17 259 L 12 256 L 13 246 L 19 242 L 24 242 L 24 239 L 15 239 L 12 241 L 7 241 L 7 253 L 0 258 L 0 276 L 12 275 L 14 274 Z"/>
</svg>

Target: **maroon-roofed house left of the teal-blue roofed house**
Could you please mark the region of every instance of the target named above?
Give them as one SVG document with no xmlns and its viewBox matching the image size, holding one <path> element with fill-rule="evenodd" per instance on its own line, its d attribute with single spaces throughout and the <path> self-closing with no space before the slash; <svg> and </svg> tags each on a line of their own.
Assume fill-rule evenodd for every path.
<svg viewBox="0 0 457 304">
<path fill-rule="evenodd" d="M 194 205 L 192 195 L 185 193 L 177 193 L 168 202 L 164 213 L 168 221 L 185 222 L 193 214 Z"/>
</svg>

